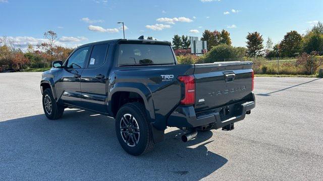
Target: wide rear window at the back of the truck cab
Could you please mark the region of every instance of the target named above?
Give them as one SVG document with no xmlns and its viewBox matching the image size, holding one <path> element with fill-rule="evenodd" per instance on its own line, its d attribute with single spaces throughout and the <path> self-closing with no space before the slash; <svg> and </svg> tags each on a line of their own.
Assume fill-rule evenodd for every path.
<svg viewBox="0 0 323 181">
<path fill-rule="evenodd" d="M 120 44 L 119 66 L 175 64 L 171 46 L 153 44 Z"/>
</svg>

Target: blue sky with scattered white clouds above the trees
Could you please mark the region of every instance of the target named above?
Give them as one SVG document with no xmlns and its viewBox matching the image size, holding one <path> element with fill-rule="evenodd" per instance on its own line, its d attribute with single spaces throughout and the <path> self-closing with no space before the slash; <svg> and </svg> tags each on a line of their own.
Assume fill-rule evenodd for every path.
<svg viewBox="0 0 323 181">
<path fill-rule="evenodd" d="M 43 33 L 57 32 L 63 46 L 140 35 L 170 41 L 174 34 L 198 36 L 205 29 L 226 29 L 234 46 L 245 46 L 248 32 L 278 43 L 296 30 L 300 34 L 323 21 L 323 1 L 14 1 L 0 0 L 0 36 L 22 48 L 43 41 Z"/>
</svg>

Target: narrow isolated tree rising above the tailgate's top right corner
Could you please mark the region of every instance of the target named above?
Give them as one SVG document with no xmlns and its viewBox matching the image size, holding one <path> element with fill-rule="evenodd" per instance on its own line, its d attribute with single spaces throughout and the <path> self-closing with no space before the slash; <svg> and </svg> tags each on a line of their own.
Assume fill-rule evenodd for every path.
<svg viewBox="0 0 323 181">
<path fill-rule="evenodd" d="M 258 32 L 248 33 L 247 35 L 247 55 L 250 57 L 262 55 L 263 39 Z"/>
</svg>

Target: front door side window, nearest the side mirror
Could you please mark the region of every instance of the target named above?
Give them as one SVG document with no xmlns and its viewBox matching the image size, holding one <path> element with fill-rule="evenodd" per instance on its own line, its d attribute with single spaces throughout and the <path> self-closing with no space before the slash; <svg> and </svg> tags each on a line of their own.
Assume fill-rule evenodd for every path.
<svg viewBox="0 0 323 181">
<path fill-rule="evenodd" d="M 76 50 L 67 61 L 67 68 L 84 68 L 84 61 L 89 47 Z"/>
</svg>

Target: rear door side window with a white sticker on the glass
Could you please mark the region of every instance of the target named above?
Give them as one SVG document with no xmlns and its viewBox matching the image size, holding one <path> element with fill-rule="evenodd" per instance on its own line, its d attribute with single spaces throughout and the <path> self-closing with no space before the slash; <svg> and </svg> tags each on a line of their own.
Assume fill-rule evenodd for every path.
<svg viewBox="0 0 323 181">
<path fill-rule="evenodd" d="M 107 44 L 94 45 L 90 56 L 88 68 L 96 68 L 102 65 L 105 61 L 105 54 L 107 51 Z"/>
</svg>

